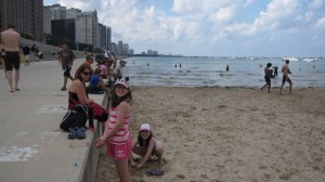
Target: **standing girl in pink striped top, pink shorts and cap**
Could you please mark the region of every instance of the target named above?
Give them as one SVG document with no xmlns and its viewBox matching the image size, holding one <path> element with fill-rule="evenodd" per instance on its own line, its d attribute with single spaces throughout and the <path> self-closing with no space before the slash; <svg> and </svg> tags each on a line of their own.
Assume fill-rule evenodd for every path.
<svg viewBox="0 0 325 182">
<path fill-rule="evenodd" d="M 115 82 L 108 123 L 105 125 L 104 134 L 95 141 L 96 147 L 106 144 L 106 154 L 115 160 L 121 182 L 131 181 L 128 161 L 132 145 L 129 130 L 132 94 L 127 80 L 121 78 Z"/>
</svg>

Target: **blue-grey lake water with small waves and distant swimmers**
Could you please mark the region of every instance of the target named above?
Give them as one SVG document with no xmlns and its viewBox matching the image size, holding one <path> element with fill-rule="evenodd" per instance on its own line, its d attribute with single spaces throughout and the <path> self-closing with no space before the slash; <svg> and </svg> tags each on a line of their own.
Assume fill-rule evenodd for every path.
<svg viewBox="0 0 325 182">
<path fill-rule="evenodd" d="M 131 86 L 161 87 L 261 87 L 269 62 L 280 67 L 280 77 L 272 79 L 272 87 L 280 87 L 284 64 L 281 58 L 249 57 L 130 57 L 127 61 L 125 75 L 130 77 Z M 229 72 L 225 72 L 226 64 Z M 289 67 L 294 87 L 325 87 L 325 58 L 290 62 Z"/>
</svg>

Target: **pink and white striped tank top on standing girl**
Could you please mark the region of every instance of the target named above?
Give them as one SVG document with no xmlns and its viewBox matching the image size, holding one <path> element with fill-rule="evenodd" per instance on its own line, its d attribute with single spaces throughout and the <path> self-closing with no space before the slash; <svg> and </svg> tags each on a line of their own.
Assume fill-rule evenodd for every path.
<svg viewBox="0 0 325 182">
<path fill-rule="evenodd" d="M 109 109 L 109 119 L 108 119 L 108 131 L 112 131 L 114 126 L 117 123 L 117 116 L 119 113 L 119 107 L 110 108 Z M 118 132 L 109 138 L 109 143 L 112 144 L 126 144 L 129 139 L 131 138 L 130 131 L 129 131 L 129 123 L 130 123 L 130 112 L 127 113 L 125 117 L 125 121 L 122 127 L 118 130 Z"/>
</svg>

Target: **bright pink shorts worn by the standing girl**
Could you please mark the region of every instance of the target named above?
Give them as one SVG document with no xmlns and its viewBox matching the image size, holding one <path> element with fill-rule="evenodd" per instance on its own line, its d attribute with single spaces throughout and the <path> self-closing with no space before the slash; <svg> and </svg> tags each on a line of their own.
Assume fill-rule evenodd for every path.
<svg viewBox="0 0 325 182">
<path fill-rule="evenodd" d="M 114 160 L 129 159 L 131 154 L 131 147 L 132 147 L 131 138 L 127 143 L 120 145 L 107 142 L 106 155 L 112 156 Z"/>
</svg>

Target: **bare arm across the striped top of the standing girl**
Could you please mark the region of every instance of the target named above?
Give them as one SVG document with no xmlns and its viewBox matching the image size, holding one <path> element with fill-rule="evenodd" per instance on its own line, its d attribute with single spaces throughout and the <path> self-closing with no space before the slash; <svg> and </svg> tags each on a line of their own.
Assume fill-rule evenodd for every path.
<svg viewBox="0 0 325 182">
<path fill-rule="evenodd" d="M 116 125 L 113 127 L 110 131 L 108 131 L 108 123 L 106 123 L 104 134 L 101 138 L 99 138 L 95 142 L 96 147 L 102 147 L 109 138 L 112 138 L 118 132 L 118 130 L 123 126 L 125 117 L 129 112 L 129 109 L 130 109 L 129 103 L 123 101 L 119 104 L 119 112 L 117 115 Z"/>
</svg>

